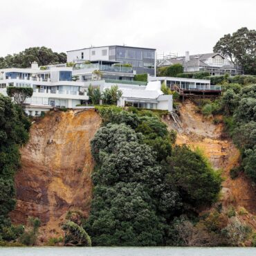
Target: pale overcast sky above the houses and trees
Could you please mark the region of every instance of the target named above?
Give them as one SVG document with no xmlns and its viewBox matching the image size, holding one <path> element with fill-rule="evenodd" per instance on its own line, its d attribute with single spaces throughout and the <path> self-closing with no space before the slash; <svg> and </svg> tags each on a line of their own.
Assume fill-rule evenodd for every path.
<svg viewBox="0 0 256 256">
<path fill-rule="evenodd" d="M 1 0 L 0 10 L 0 56 L 114 44 L 208 53 L 223 35 L 256 29 L 255 0 Z"/>
</svg>

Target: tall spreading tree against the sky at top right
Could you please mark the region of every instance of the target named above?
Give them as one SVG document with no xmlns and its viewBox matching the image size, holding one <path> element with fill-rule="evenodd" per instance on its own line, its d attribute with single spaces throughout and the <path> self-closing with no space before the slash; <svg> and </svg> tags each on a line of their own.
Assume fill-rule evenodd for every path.
<svg viewBox="0 0 256 256">
<path fill-rule="evenodd" d="M 244 72 L 256 75 L 256 31 L 239 28 L 232 35 L 224 35 L 215 44 L 214 53 L 221 53 L 230 58 L 233 64 L 243 66 Z"/>
</svg>

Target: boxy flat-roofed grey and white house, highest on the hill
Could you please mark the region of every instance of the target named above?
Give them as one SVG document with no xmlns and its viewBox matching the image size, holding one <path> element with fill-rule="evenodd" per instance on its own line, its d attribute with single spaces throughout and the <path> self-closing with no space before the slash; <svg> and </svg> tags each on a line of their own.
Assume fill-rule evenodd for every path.
<svg viewBox="0 0 256 256">
<path fill-rule="evenodd" d="M 67 51 L 68 62 L 99 62 L 131 64 L 137 74 L 155 74 L 156 49 L 131 46 L 100 46 Z"/>
</svg>

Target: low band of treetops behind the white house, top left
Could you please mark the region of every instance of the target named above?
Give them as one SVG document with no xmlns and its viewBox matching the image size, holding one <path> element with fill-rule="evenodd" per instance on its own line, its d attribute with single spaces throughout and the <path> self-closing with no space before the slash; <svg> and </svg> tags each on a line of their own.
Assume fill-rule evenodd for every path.
<svg viewBox="0 0 256 256">
<path fill-rule="evenodd" d="M 30 47 L 17 54 L 0 57 L 0 68 L 28 68 L 32 62 L 39 66 L 66 63 L 66 53 L 55 53 L 44 46 Z"/>
</svg>

